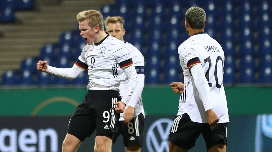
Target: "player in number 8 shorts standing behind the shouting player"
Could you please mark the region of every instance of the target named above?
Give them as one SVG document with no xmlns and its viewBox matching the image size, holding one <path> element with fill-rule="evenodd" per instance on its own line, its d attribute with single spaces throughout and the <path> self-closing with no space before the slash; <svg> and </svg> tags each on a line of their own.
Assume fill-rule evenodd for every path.
<svg viewBox="0 0 272 152">
<path fill-rule="evenodd" d="M 141 52 L 132 44 L 126 42 L 123 38 L 126 30 L 123 28 L 124 20 L 120 16 L 107 17 L 105 21 L 107 32 L 119 40 L 123 41 L 131 52 L 133 65 L 137 72 L 138 83 L 133 92 L 128 105 L 124 111 L 124 115 L 129 115 L 130 119 L 125 119 L 123 114 L 120 114 L 118 121 L 118 132 L 113 137 L 113 143 L 120 134 L 123 136 L 123 143 L 125 145 L 126 152 L 140 152 L 143 145 L 143 129 L 144 129 L 144 107 L 142 103 L 141 94 L 144 88 L 144 57 Z M 123 98 L 128 81 L 121 82 L 120 84 L 120 96 Z M 94 152 L 97 152 L 96 145 L 94 146 Z"/>
</svg>

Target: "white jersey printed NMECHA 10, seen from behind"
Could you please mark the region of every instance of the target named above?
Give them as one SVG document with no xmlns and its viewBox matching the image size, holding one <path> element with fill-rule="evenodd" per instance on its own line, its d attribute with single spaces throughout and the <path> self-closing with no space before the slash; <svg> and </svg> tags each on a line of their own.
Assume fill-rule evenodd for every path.
<svg viewBox="0 0 272 152">
<path fill-rule="evenodd" d="M 208 123 L 202 99 L 194 84 L 190 68 L 202 64 L 208 80 L 213 110 L 219 123 L 229 122 L 228 107 L 223 86 L 224 51 L 220 44 L 205 32 L 192 35 L 178 47 L 180 65 L 184 74 L 184 92 L 180 96 L 177 115 L 187 113 L 193 122 Z"/>
</svg>

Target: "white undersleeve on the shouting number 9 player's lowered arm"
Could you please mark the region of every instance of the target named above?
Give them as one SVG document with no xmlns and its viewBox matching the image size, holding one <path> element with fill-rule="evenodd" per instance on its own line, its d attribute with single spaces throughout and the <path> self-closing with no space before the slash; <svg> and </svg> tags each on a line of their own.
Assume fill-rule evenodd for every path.
<svg viewBox="0 0 272 152">
<path fill-rule="evenodd" d="M 126 85 L 125 95 L 121 101 L 128 105 L 128 101 L 131 98 L 131 95 L 134 92 L 137 85 L 137 73 L 133 64 L 129 67 L 123 68 L 123 70 L 125 74 L 128 76 L 128 84 Z"/>
</svg>

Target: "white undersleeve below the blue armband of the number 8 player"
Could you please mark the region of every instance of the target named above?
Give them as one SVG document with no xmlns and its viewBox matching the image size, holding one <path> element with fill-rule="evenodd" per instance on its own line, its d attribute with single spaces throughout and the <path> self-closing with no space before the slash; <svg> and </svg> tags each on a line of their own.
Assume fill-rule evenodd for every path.
<svg viewBox="0 0 272 152">
<path fill-rule="evenodd" d="M 138 78 L 138 83 L 136 85 L 134 92 L 131 95 L 131 98 L 128 101 L 128 106 L 131 106 L 133 108 L 137 104 L 144 89 L 144 74 L 138 74 L 137 78 Z"/>
</svg>

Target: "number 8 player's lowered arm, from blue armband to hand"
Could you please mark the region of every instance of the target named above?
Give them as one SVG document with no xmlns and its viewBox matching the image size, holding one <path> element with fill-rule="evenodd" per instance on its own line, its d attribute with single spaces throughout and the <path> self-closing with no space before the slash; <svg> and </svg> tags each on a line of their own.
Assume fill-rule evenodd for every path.
<svg viewBox="0 0 272 152">
<path fill-rule="evenodd" d="M 125 123 L 129 123 L 133 119 L 135 105 L 137 104 L 144 89 L 144 67 L 138 66 L 135 67 L 135 69 L 137 69 L 136 72 L 138 83 L 135 87 L 134 92 L 131 95 L 131 98 L 128 101 L 128 107 L 124 111 L 123 117 Z"/>
</svg>

